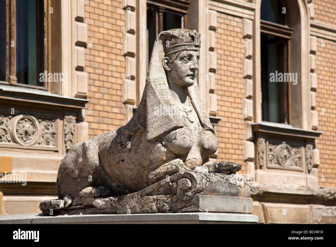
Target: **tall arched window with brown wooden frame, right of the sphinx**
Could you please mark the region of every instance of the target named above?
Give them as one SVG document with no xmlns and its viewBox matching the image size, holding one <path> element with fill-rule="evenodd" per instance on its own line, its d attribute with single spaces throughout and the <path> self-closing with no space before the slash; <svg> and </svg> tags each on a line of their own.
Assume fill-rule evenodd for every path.
<svg viewBox="0 0 336 247">
<path fill-rule="evenodd" d="M 262 121 L 290 124 L 290 77 L 287 77 L 287 73 L 293 29 L 287 26 L 284 11 L 288 11 L 288 8 L 281 0 L 261 2 L 261 107 Z M 280 74 L 282 76 L 278 77 Z M 271 75 L 274 76 L 273 80 Z"/>
</svg>

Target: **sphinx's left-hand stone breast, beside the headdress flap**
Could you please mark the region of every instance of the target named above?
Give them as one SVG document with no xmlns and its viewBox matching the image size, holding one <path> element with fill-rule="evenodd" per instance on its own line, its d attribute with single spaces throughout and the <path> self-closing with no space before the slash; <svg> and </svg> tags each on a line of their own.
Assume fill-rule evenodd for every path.
<svg viewBox="0 0 336 247">
<path fill-rule="evenodd" d="M 194 135 L 188 128 L 179 128 L 165 136 L 167 147 L 174 154 L 187 154 L 194 143 Z"/>
</svg>

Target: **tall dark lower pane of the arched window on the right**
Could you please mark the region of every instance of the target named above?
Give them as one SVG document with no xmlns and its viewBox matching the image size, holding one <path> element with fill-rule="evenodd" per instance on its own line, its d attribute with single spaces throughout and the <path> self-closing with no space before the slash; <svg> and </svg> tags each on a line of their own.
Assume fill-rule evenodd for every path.
<svg viewBox="0 0 336 247">
<path fill-rule="evenodd" d="M 275 77 L 286 73 L 285 60 L 287 40 L 272 35 L 261 34 L 261 91 L 262 120 L 284 123 L 286 120 L 285 102 L 286 82 L 270 81 L 270 74 Z"/>
</svg>

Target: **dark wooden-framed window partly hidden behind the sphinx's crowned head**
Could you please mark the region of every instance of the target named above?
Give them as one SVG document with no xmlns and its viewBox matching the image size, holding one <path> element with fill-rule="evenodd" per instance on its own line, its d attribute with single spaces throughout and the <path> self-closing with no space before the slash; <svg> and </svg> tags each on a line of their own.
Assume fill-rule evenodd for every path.
<svg viewBox="0 0 336 247">
<path fill-rule="evenodd" d="M 156 36 L 162 31 L 186 27 L 188 4 L 185 0 L 176 5 L 167 0 L 147 1 L 147 67 Z"/>
</svg>

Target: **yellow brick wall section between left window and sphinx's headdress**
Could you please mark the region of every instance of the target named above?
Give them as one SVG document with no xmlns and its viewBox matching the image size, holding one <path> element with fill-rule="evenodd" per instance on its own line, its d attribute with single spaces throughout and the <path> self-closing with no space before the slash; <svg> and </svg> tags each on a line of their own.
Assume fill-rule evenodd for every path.
<svg viewBox="0 0 336 247">
<path fill-rule="evenodd" d="M 125 10 L 122 0 L 86 0 L 84 22 L 88 25 L 85 71 L 88 72 L 88 99 L 85 121 L 89 138 L 124 125 L 122 83 L 125 57 L 122 54 Z M 89 113 L 92 109 L 92 114 Z"/>
</svg>

